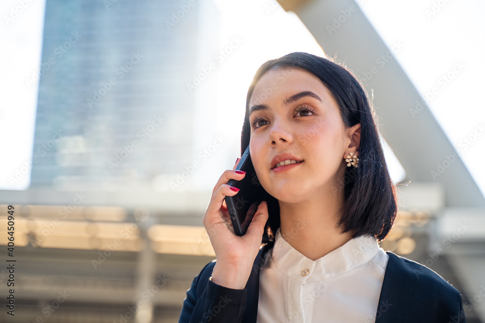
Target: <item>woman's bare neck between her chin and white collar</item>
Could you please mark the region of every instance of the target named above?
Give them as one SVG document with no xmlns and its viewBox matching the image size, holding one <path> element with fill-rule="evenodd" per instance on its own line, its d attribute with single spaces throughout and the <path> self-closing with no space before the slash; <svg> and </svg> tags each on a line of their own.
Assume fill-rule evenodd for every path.
<svg viewBox="0 0 485 323">
<path fill-rule="evenodd" d="M 336 198 L 331 191 L 315 192 L 298 203 L 279 201 L 281 236 L 308 259 L 322 258 L 350 241 L 355 233 L 342 234 L 335 229 L 342 205 L 343 194 Z"/>
</svg>

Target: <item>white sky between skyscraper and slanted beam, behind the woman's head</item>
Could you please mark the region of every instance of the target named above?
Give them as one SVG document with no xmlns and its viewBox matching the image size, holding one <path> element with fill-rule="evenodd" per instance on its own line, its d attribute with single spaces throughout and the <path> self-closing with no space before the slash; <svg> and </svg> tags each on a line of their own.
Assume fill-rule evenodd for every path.
<svg viewBox="0 0 485 323">
<path fill-rule="evenodd" d="M 184 185 L 183 189 L 212 190 L 213 178 L 219 178 L 221 169 L 232 168 L 236 157 L 240 156 L 246 94 L 256 70 L 262 63 L 294 51 L 323 55 L 322 48 L 298 16 L 285 12 L 276 1 L 214 2 L 220 11 L 220 48 L 227 46 L 235 35 L 243 40 L 226 60 L 218 64 L 217 72 L 214 74 L 218 79 L 218 88 L 214 101 L 211 101 L 211 105 L 216 102 L 216 110 L 212 111 L 210 118 L 216 118 L 213 122 L 214 132 L 226 134 L 230 148 L 224 151 L 224 154 L 212 158 L 211 165 L 207 165 L 204 171 L 194 174 L 195 176 L 190 179 L 193 181 L 191 185 Z M 198 121 L 201 122 L 200 119 Z M 206 136 L 207 138 L 199 140 L 210 142 L 214 135 L 210 133 Z M 405 177 L 404 169 L 387 143 L 384 143 L 391 178 L 394 182 L 400 182 Z M 201 147 L 195 147 L 194 155 L 202 147 L 202 143 Z"/>
</svg>

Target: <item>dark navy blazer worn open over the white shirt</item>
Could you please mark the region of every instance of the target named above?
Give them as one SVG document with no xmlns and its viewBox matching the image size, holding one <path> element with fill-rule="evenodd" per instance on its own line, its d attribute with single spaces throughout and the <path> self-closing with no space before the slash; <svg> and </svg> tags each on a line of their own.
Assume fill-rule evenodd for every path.
<svg viewBox="0 0 485 323">
<path fill-rule="evenodd" d="M 179 323 L 256 323 L 259 268 L 269 245 L 259 249 L 243 290 L 220 286 L 211 280 L 215 260 L 194 278 L 183 301 Z M 434 271 L 390 251 L 375 322 L 466 323 L 460 293 Z M 322 320 L 324 322 L 324 318 Z M 372 322 L 364 321 L 364 323 Z"/>
</svg>

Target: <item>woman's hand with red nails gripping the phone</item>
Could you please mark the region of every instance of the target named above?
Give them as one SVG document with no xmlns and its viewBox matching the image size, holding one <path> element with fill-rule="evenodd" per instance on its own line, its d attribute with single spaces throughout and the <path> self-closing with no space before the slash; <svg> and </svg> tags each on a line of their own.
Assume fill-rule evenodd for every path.
<svg viewBox="0 0 485 323">
<path fill-rule="evenodd" d="M 231 186 L 226 183 L 230 179 L 240 181 L 244 178 L 245 174 L 238 174 L 234 171 L 240 160 L 236 161 L 232 170 L 227 169 L 219 178 L 202 218 L 217 259 L 212 281 L 232 289 L 244 289 L 246 286 L 254 260 L 259 252 L 259 246 L 261 246 L 264 226 L 268 220 L 267 203 L 262 201 L 259 203 L 246 234 L 240 237 L 234 233 L 224 198 L 238 194 L 231 190 Z"/>
</svg>

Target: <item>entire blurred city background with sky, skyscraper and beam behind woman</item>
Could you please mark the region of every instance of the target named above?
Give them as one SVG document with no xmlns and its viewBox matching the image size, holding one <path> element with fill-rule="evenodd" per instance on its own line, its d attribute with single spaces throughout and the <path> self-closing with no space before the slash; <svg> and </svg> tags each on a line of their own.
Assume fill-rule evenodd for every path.
<svg viewBox="0 0 485 323">
<path fill-rule="evenodd" d="M 482 1 L 6 0 L 0 246 L 15 316 L 172 323 L 214 253 L 202 216 L 263 62 L 327 54 L 376 109 L 399 215 L 381 242 L 485 322 Z M 6 263 L 6 262 L 4 262 Z M 8 270 L 0 267 L 2 303 Z"/>
</svg>

